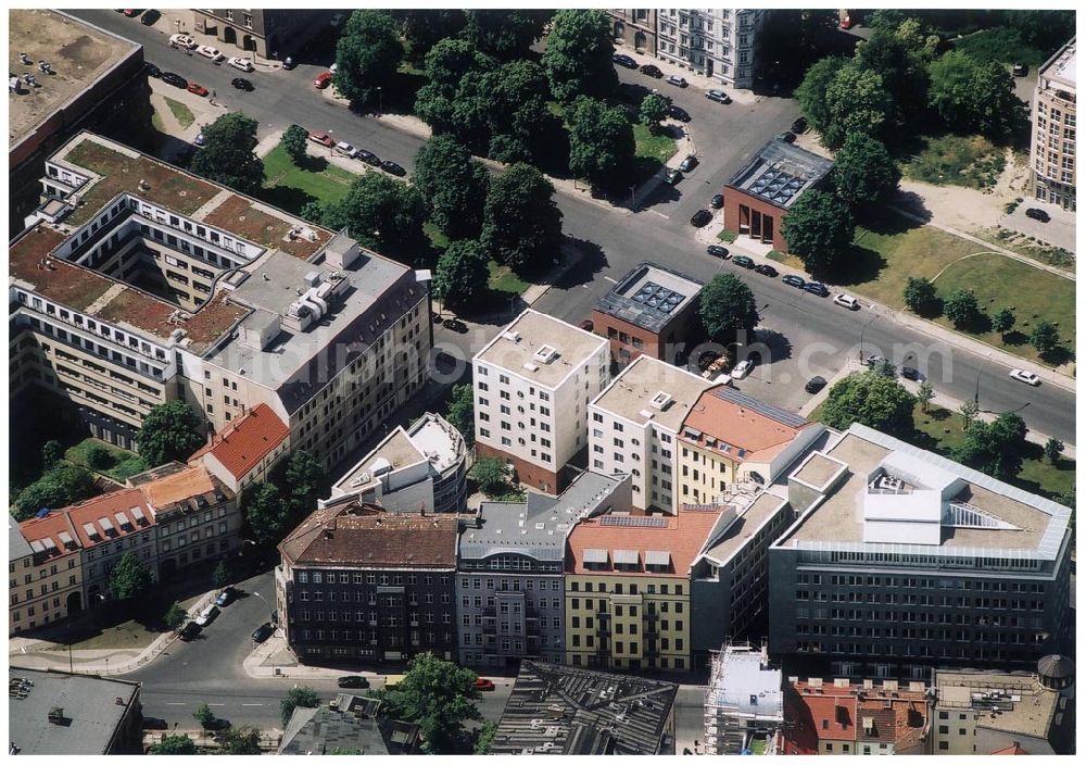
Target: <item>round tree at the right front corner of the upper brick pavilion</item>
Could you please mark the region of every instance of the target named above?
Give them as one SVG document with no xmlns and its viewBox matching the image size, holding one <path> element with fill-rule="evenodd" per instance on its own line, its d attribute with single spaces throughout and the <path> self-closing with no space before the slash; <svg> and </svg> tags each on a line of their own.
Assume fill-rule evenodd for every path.
<svg viewBox="0 0 1086 765">
<path fill-rule="evenodd" d="M 821 189 L 808 189 L 782 224 L 788 252 L 812 275 L 829 273 L 853 242 L 853 214 L 841 199 Z"/>
</svg>

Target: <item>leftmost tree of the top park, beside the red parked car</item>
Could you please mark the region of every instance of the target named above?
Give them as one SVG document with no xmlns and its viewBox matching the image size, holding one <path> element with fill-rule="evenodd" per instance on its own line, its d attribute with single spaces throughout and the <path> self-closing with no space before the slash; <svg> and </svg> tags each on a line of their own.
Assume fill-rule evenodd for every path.
<svg viewBox="0 0 1086 765">
<path fill-rule="evenodd" d="M 336 88 L 344 98 L 365 103 L 376 88 L 391 81 L 403 57 L 391 13 L 354 11 L 336 45 Z"/>
</svg>

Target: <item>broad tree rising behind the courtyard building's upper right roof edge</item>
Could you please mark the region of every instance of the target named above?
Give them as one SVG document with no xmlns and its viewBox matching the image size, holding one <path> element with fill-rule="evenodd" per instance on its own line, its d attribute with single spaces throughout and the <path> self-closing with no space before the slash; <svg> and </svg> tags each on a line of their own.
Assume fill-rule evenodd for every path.
<svg viewBox="0 0 1086 765">
<path fill-rule="evenodd" d="M 325 224 L 348 227 L 364 247 L 408 265 L 426 250 L 426 202 L 414 186 L 381 173 L 366 173 L 351 184 L 346 197 L 326 208 Z"/>
</svg>

